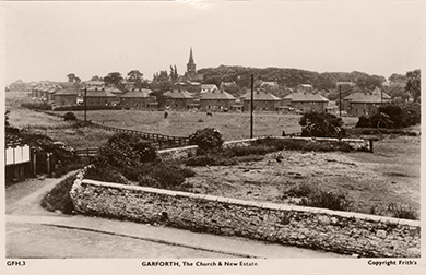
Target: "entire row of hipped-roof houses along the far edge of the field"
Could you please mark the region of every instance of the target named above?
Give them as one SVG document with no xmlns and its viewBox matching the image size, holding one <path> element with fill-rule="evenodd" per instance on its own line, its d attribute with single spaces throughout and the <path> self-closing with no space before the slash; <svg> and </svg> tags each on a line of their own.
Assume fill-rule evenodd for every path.
<svg viewBox="0 0 426 275">
<path fill-rule="evenodd" d="M 86 89 L 86 94 L 85 94 Z M 120 106 L 126 109 L 157 110 L 168 107 L 173 110 L 200 111 L 248 111 L 251 105 L 251 93 L 240 97 L 217 88 L 213 84 L 202 84 L 200 93 L 190 93 L 176 87 L 164 93 L 164 103 L 159 106 L 151 89 L 133 88 L 122 92 L 116 87 L 107 87 L 103 82 L 86 82 L 75 86 L 72 84 L 40 84 L 33 88 L 32 96 L 55 106 L 82 105 L 84 96 L 87 106 Z M 374 113 L 381 104 L 389 103 L 390 96 L 376 88 L 372 93 L 354 93 L 343 98 L 343 110 L 352 116 Z M 255 111 L 329 111 L 336 112 L 329 99 L 311 92 L 292 93 L 280 98 L 262 88 L 253 93 Z"/>
</svg>

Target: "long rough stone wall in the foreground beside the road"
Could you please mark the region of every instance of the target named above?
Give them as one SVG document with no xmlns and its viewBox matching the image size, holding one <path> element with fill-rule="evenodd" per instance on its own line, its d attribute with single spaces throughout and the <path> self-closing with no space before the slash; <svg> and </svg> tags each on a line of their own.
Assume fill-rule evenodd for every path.
<svg viewBox="0 0 426 275">
<path fill-rule="evenodd" d="M 157 223 L 345 254 L 417 258 L 417 220 L 122 186 L 78 176 L 70 192 L 82 214 Z"/>
</svg>

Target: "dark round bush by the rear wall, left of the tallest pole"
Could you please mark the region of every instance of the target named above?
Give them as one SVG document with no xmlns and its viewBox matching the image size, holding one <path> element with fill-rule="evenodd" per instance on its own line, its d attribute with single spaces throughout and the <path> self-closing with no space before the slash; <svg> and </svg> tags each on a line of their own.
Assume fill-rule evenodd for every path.
<svg viewBox="0 0 426 275">
<path fill-rule="evenodd" d="M 206 154 L 212 151 L 221 151 L 223 139 L 221 132 L 213 128 L 197 130 L 189 136 L 189 144 L 198 146 L 198 154 Z"/>
</svg>

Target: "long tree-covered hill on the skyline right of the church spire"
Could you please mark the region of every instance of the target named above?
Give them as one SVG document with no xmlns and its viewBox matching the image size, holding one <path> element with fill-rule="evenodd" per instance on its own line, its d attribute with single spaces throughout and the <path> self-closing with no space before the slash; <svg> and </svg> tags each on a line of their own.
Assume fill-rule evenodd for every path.
<svg viewBox="0 0 426 275">
<path fill-rule="evenodd" d="M 363 72 L 326 72 L 318 73 L 287 68 L 249 68 L 238 65 L 220 65 L 198 70 L 204 75 L 204 83 L 221 85 L 221 82 L 235 82 L 240 88 L 250 86 L 250 75 L 257 80 L 275 81 L 280 88 L 296 88 L 299 84 L 311 84 L 318 91 L 331 91 L 336 82 L 353 82 L 359 89 L 372 91 L 381 87 L 384 76 L 369 75 Z"/>
</svg>

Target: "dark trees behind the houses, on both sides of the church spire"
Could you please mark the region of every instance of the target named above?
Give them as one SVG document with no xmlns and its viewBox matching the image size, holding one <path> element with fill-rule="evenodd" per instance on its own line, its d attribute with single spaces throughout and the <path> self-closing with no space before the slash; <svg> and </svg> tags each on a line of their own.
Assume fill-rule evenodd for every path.
<svg viewBox="0 0 426 275">
<path fill-rule="evenodd" d="M 279 97 L 284 97 L 297 89 L 299 84 L 311 84 L 316 91 L 329 98 L 339 100 L 352 93 L 371 92 L 376 87 L 388 93 L 397 103 L 405 103 L 410 97 L 414 101 L 421 99 L 421 70 L 407 72 L 405 75 L 393 73 L 389 76 L 389 85 L 382 85 L 386 77 L 380 75 L 369 75 L 363 72 L 324 72 L 318 73 L 298 69 L 285 68 L 249 68 L 220 65 L 217 68 L 205 68 L 198 71 L 203 74 L 205 84 L 215 84 L 217 87 L 222 83 L 233 83 L 226 86 L 228 93 L 239 96 L 249 91 L 251 86 L 251 75 L 256 75 L 257 84 L 260 81 L 276 82 L 277 87 L 263 87 Z M 81 80 L 74 74 L 67 75 L 69 82 L 79 83 Z M 92 80 L 104 81 L 106 85 L 125 89 L 123 82 L 132 84 L 137 88 L 151 88 L 158 95 L 169 91 L 179 80 L 176 65 L 170 65 L 170 71 L 162 70 L 153 75 L 151 84 L 143 79 L 143 73 L 139 70 L 131 70 L 125 79 L 119 72 L 110 72 L 104 77 L 97 75 Z M 339 82 L 350 82 L 353 85 L 338 86 Z"/>
</svg>

